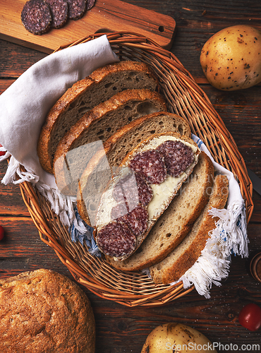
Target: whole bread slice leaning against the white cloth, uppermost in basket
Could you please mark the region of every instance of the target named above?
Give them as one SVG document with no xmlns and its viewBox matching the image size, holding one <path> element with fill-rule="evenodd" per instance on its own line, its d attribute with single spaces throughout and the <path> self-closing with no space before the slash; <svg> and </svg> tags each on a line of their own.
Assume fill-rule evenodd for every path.
<svg viewBox="0 0 261 353">
<path fill-rule="evenodd" d="M 37 153 L 42 167 L 53 173 L 59 140 L 85 112 L 117 92 L 131 88 L 157 89 L 157 77 L 150 66 L 138 61 L 119 61 L 97 68 L 68 88 L 47 114 L 40 132 Z"/>
</svg>

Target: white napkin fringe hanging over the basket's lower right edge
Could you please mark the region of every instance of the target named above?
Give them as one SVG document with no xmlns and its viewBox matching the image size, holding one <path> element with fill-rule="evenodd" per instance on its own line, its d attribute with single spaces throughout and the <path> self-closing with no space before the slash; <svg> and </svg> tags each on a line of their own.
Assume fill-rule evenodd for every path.
<svg viewBox="0 0 261 353">
<path fill-rule="evenodd" d="M 229 275 L 231 253 L 248 257 L 244 202 L 235 201 L 222 210 L 212 208 L 210 215 L 219 217 L 216 228 L 209 233 L 210 238 L 198 261 L 177 281 L 182 281 L 185 289 L 195 285 L 197 292 L 207 299 L 212 284 L 220 286 L 220 281 Z"/>
</svg>

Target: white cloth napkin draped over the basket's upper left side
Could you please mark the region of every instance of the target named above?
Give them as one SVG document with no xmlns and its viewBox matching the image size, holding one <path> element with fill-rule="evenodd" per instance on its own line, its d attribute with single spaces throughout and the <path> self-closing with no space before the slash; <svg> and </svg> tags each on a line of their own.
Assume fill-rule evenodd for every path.
<svg viewBox="0 0 261 353">
<path fill-rule="evenodd" d="M 0 96 L 0 143 L 12 155 L 3 182 L 11 181 L 18 163 L 29 174 L 19 174 L 20 181 L 40 180 L 56 188 L 54 177 L 44 172 L 37 156 L 37 139 L 47 112 L 76 81 L 96 68 L 119 61 L 106 35 L 90 42 L 50 54 L 28 68 Z M 0 161 L 4 160 L 0 157 Z M 24 177 L 24 178 L 23 178 Z"/>
</svg>

